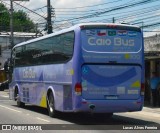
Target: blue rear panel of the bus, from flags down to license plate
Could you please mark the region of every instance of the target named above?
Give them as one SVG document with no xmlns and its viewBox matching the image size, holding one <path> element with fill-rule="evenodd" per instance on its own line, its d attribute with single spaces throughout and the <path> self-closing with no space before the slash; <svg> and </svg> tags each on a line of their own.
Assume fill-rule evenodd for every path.
<svg viewBox="0 0 160 133">
<path fill-rule="evenodd" d="M 138 99 L 142 82 L 142 35 L 132 28 L 82 29 L 82 97 Z"/>
</svg>

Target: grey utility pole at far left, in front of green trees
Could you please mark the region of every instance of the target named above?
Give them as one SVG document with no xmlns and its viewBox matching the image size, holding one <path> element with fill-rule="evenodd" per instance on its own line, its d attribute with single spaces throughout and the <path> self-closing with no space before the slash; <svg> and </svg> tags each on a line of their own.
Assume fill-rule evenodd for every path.
<svg viewBox="0 0 160 133">
<path fill-rule="evenodd" d="M 11 48 L 14 46 L 14 35 L 13 35 L 13 0 L 10 0 L 10 30 L 11 30 L 11 35 L 10 35 L 10 44 Z"/>
</svg>

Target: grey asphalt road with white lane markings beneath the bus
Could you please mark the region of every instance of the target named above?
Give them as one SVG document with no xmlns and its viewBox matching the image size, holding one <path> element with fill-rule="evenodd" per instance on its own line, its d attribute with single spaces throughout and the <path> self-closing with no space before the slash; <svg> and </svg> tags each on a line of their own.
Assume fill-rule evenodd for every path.
<svg viewBox="0 0 160 133">
<path fill-rule="evenodd" d="M 136 125 L 137 128 L 143 128 L 144 126 L 157 127 L 160 124 L 160 108 L 144 107 L 140 112 L 115 113 L 111 119 L 82 113 L 61 113 L 58 118 L 50 118 L 44 108 L 32 105 L 27 105 L 24 108 L 17 107 L 16 102 L 9 100 L 8 92 L 1 91 L 0 124 L 47 124 L 48 128 L 52 124 L 52 128 L 62 128 L 61 131 L 77 128 L 78 130 L 81 129 L 79 132 L 85 129 L 96 131 L 99 128 L 104 128 L 104 126 L 105 129 L 108 126 L 109 129 L 113 128 L 112 130 L 128 128 L 130 125 Z M 129 131 L 127 130 L 127 132 Z M 145 130 L 145 133 L 146 131 L 151 132 L 151 130 Z M 104 130 L 101 130 L 101 132 L 104 132 Z"/>
</svg>

